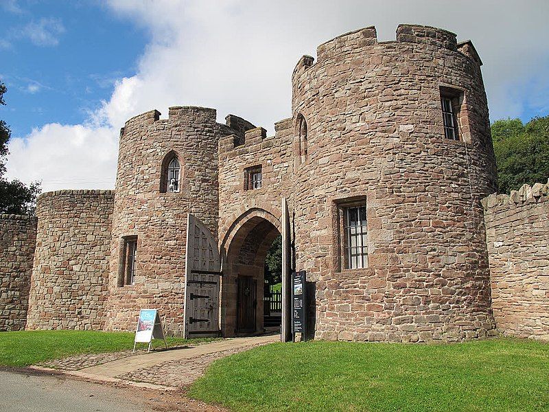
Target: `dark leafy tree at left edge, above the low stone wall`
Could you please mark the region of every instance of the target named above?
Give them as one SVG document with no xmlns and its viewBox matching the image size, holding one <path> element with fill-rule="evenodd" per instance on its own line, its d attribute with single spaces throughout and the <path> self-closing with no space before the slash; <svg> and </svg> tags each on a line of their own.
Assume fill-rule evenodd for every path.
<svg viewBox="0 0 549 412">
<path fill-rule="evenodd" d="M 0 104 L 5 106 L 5 84 L 0 82 Z M 7 214 L 34 214 L 36 195 L 40 192 L 40 183 L 33 182 L 25 185 L 21 181 L 5 179 L 5 157 L 8 155 L 8 141 L 11 130 L 0 120 L 0 213 Z"/>
</svg>

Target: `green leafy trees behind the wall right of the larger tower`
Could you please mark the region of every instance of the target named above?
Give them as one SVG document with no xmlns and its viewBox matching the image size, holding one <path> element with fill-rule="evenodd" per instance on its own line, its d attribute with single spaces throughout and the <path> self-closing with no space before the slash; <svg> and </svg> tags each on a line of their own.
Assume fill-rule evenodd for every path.
<svg viewBox="0 0 549 412">
<path fill-rule="evenodd" d="M 549 116 L 527 124 L 504 119 L 491 126 L 498 185 L 501 193 L 518 190 L 524 183 L 545 183 L 549 176 Z"/>
</svg>

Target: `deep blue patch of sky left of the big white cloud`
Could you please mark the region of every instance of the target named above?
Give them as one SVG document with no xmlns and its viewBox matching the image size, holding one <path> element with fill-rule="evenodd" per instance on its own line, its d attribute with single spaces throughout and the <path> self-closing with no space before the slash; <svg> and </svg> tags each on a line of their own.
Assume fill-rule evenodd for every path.
<svg viewBox="0 0 549 412">
<path fill-rule="evenodd" d="M 136 72 L 148 40 L 143 27 L 97 1 L 13 2 L 2 11 L 2 118 L 14 137 L 51 122 L 84 122 L 117 78 Z"/>
</svg>

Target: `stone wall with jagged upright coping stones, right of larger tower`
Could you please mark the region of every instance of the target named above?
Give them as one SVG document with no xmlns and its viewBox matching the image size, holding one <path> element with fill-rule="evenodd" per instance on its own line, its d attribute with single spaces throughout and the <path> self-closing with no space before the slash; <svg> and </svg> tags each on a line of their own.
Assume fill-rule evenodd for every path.
<svg viewBox="0 0 549 412">
<path fill-rule="evenodd" d="M 549 184 L 484 198 L 499 332 L 549 341 Z"/>
</svg>

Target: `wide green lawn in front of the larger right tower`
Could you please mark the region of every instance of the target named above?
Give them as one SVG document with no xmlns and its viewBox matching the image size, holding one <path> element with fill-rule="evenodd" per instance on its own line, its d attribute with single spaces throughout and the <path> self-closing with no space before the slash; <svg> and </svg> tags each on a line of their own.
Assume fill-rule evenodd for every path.
<svg viewBox="0 0 549 412">
<path fill-rule="evenodd" d="M 234 411 L 549 411 L 549 344 L 274 343 L 216 361 L 189 394 Z"/>
</svg>

